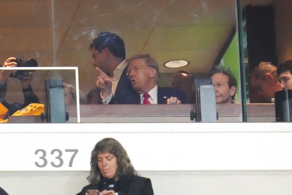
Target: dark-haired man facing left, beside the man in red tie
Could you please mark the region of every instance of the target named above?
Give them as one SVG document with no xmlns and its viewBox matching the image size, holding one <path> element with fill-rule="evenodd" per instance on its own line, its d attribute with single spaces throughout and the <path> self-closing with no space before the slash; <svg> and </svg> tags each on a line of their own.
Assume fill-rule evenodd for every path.
<svg viewBox="0 0 292 195">
<path fill-rule="evenodd" d="M 112 98 L 118 97 L 121 91 L 132 89 L 126 75 L 124 41 L 115 33 L 102 32 L 90 43 L 90 49 L 93 65 L 100 75 L 97 87 L 101 90 L 102 103 L 112 103 Z"/>
</svg>

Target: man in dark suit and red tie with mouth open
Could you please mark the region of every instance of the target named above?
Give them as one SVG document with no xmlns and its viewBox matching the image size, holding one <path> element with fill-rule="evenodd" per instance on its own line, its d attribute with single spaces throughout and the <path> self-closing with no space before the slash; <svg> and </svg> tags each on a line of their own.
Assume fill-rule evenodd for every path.
<svg viewBox="0 0 292 195">
<path fill-rule="evenodd" d="M 183 90 L 158 87 L 158 65 L 149 54 L 136 55 L 127 60 L 127 74 L 134 90 L 123 90 L 115 104 L 181 104 L 187 103 Z"/>
</svg>

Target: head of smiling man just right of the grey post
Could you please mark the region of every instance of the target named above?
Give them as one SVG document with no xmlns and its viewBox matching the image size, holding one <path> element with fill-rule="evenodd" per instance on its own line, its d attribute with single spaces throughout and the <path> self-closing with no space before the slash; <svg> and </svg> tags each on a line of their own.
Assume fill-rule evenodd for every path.
<svg viewBox="0 0 292 195">
<path fill-rule="evenodd" d="M 216 104 L 232 104 L 232 96 L 235 94 L 236 87 L 229 88 L 229 78 L 223 73 L 215 73 L 211 77 L 215 87 Z"/>
</svg>

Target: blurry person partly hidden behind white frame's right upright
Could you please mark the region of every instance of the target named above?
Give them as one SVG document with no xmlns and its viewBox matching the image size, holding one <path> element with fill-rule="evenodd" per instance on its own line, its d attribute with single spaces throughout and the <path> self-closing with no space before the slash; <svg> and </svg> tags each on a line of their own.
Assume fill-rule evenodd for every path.
<svg viewBox="0 0 292 195">
<path fill-rule="evenodd" d="M 76 105 L 77 104 L 77 92 L 76 87 L 63 83 L 65 91 L 65 105 Z M 86 104 L 85 96 L 82 91 L 79 90 L 79 104 Z"/>
</svg>

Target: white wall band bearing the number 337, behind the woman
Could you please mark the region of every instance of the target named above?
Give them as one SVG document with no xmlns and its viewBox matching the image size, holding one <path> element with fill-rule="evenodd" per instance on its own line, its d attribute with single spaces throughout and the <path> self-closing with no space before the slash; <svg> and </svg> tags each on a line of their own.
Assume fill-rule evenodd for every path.
<svg viewBox="0 0 292 195">
<path fill-rule="evenodd" d="M 89 171 L 105 137 L 125 147 L 138 171 L 292 170 L 291 125 L 279 125 L 3 124 L 0 171 Z"/>
</svg>

